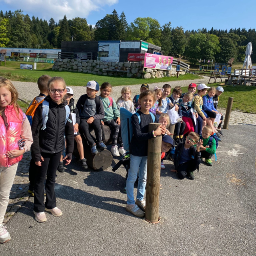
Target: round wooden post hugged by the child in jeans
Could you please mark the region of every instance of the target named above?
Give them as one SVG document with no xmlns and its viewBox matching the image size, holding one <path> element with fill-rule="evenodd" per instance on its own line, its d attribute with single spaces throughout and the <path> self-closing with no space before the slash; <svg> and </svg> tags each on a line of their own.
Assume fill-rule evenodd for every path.
<svg viewBox="0 0 256 256">
<path fill-rule="evenodd" d="M 148 132 L 156 131 L 159 125 L 150 123 Z M 148 140 L 145 219 L 152 223 L 159 221 L 161 146 L 162 136 Z"/>
</svg>

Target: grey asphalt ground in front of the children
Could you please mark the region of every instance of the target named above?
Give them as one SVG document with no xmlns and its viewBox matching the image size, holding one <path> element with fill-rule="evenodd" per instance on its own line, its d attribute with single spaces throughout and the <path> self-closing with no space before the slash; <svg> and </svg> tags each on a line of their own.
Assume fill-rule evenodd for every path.
<svg viewBox="0 0 256 256">
<path fill-rule="evenodd" d="M 83 172 L 73 161 L 56 177 L 63 215 L 37 223 L 31 198 L 7 223 L 12 239 L 0 255 L 256 255 L 255 126 L 223 133 L 217 162 L 201 164 L 194 181 L 165 161 L 160 224 L 125 211 L 124 168 Z"/>
</svg>

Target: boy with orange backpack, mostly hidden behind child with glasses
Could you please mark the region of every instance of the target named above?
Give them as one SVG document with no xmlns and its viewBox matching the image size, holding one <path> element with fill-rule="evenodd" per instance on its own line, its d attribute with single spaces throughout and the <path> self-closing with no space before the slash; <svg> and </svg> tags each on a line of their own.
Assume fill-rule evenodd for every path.
<svg viewBox="0 0 256 256">
<path fill-rule="evenodd" d="M 32 110 L 31 109 L 32 105 L 34 105 L 34 108 L 32 110 L 33 113 L 35 112 L 35 110 L 38 106 L 38 103 L 41 103 L 42 100 L 44 100 L 45 97 L 48 95 L 47 83 L 50 78 L 51 77 L 48 75 L 42 75 L 37 80 L 37 86 L 38 86 L 40 93 L 37 97 L 35 97 L 30 102 L 30 104 L 28 106 L 28 110 L 29 109 Z M 30 106 L 31 106 L 31 108 L 30 108 Z M 29 114 L 28 110 L 26 111 L 26 114 Z M 32 124 L 32 118 L 33 117 L 31 116 L 31 124 Z M 32 196 L 34 196 L 35 175 L 36 175 L 36 164 L 35 164 L 35 161 L 33 159 L 31 159 L 30 164 L 29 164 L 29 182 L 30 182 L 30 184 L 29 184 L 28 193 L 30 193 Z"/>
</svg>

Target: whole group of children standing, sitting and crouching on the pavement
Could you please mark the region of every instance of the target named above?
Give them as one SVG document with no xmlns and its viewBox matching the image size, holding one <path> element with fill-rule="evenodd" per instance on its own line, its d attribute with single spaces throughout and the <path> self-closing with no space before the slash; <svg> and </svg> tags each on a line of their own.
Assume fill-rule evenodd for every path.
<svg viewBox="0 0 256 256">
<path fill-rule="evenodd" d="M 63 160 L 66 160 L 66 165 L 71 162 L 74 141 L 81 166 L 87 168 L 81 134 L 95 155 L 98 150 L 106 148 L 102 141 L 102 125 L 109 126 L 112 131 L 113 156 L 125 155 L 120 126 L 122 108 L 133 114 L 130 168 L 126 180 L 127 211 L 138 217 L 144 216 L 148 139 L 162 136 L 161 160 L 173 152 L 175 169 L 172 171 L 177 172 L 181 179 L 186 175 L 189 179 L 195 178 L 193 172 L 202 157 L 206 158 L 208 165 L 212 165 L 210 158 L 215 154 L 217 145 L 217 136 L 212 138 L 212 135 L 217 132 L 214 121 L 218 113 L 219 96 L 223 93 L 221 87 L 215 91 L 215 88 L 199 84 L 195 94 L 196 85 L 189 84 L 188 93 L 182 94 L 181 88 L 175 88 L 168 98 L 171 91 L 169 84 L 164 84 L 162 89 L 155 87 L 150 90 L 148 84 L 143 83 L 141 93 L 133 100 L 131 88 L 124 87 L 116 102 L 110 97 L 110 83 L 104 82 L 99 87 L 98 82 L 89 81 L 86 94 L 75 104 L 74 92 L 66 86 L 63 78 L 44 75 L 37 83 L 40 94 L 30 103 L 25 115 L 17 104 L 18 93 L 13 84 L 8 79 L 0 78 L 0 243 L 10 240 L 3 220 L 17 165 L 23 154 L 31 148 L 29 193 L 34 196 L 35 220 L 45 222 L 45 211 L 51 212 L 53 216 L 61 216 L 61 210 L 56 207 L 54 191 L 56 170 L 64 172 Z M 202 97 L 207 89 L 208 94 Z M 99 96 L 96 95 L 98 91 Z M 167 113 L 172 108 L 180 116 L 175 124 L 174 140 Z M 148 125 L 152 122 L 159 122 L 160 125 L 155 131 L 148 132 Z M 223 135 L 220 127 L 219 136 Z M 92 130 L 96 141 L 91 136 Z M 164 168 L 163 163 L 161 167 Z M 137 178 L 135 200 L 134 183 Z"/>
</svg>

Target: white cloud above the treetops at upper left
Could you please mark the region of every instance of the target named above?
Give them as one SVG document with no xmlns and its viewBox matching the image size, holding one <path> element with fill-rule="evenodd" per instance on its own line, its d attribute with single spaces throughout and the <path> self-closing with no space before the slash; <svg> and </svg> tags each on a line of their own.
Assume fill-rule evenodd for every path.
<svg viewBox="0 0 256 256">
<path fill-rule="evenodd" d="M 118 0 L 2 0 L 11 9 L 22 9 L 24 13 L 42 19 L 51 17 L 56 22 L 66 14 L 68 19 L 86 18 L 90 12 L 103 10 L 106 5 L 114 5 Z"/>
</svg>

